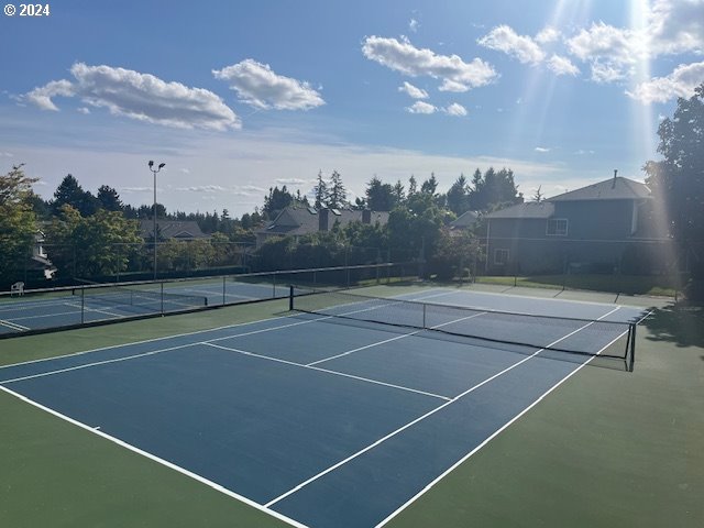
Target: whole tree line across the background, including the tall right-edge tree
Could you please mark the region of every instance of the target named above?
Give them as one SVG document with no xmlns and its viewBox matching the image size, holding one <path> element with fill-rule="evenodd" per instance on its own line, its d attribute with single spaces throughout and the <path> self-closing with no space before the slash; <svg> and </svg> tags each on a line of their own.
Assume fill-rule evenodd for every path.
<svg viewBox="0 0 704 528">
<path fill-rule="evenodd" d="M 680 98 L 674 114 L 658 129 L 660 161 L 649 161 L 644 170 L 657 204 L 661 204 L 661 223 L 680 249 L 689 255 L 692 292 L 704 297 L 704 84 L 689 98 Z M 18 279 L 26 268 L 40 230 L 44 232 L 50 258 L 59 276 L 110 275 L 148 266 L 144 248 L 164 244 L 165 267 L 193 270 L 232 262 L 228 244 L 253 243 L 255 231 L 286 207 L 355 208 L 388 211 L 388 222 L 333 227 L 329 232 L 275 240 L 250 255 L 250 265 L 260 268 L 288 263 L 290 267 L 316 261 L 349 262 L 354 248 L 372 248 L 378 255 L 406 252 L 409 257 L 427 261 L 446 275 L 457 273 L 458 260 L 476 256 L 479 244 L 472 232 L 457 235 L 448 229 L 450 221 L 466 211 L 492 211 L 522 201 L 514 173 L 509 168 L 476 169 L 471 178 L 461 174 L 447 193 L 438 191 L 435 174 L 419 183 L 386 183 L 376 175 L 366 184 L 364 195 L 348 199 L 348 190 L 338 170 L 329 178 L 318 173 L 310 197 L 290 193 L 286 186 L 273 187 L 263 206 L 241 218 L 220 212 L 167 211 L 156 205 L 160 218 L 193 220 L 211 234 L 206 242 L 187 248 L 172 241 L 144 238 L 135 220 L 152 218 L 153 206 L 133 207 L 122 202 L 118 191 L 103 185 L 96 195 L 82 189 L 67 175 L 51 200 L 33 191 L 35 178 L 13 166 L 0 175 L 0 277 Z M 540 190 L 534 199 L 541 199 Z M 311 204 L 312 202 L 312 204 Z M 481 229 L 481 223 L 480 223 Z M 168 245 L 170 244 L 170 245 Z M 167 246 L 168 245 L 168 246 Z M 231 246 L 231 245 L 230 245 Z M 354 250 L 355 251 L 355 250 Z M 369 252 L 367 252 L 369 253 Z M 370 258 L 369 254 L 364 258 Z M 363 258 L 363 256 L 359 256 Z M 454 262 L 451 266 L 449 262 Z M 160 263 L 160 267 L 162 264 Z M 444 268 L 443 268 L 444 266 Z M 21 278 L 21 277 L 20 277 Z M 697 295 L 694 293 L 693 295 Z"/>
</svg>

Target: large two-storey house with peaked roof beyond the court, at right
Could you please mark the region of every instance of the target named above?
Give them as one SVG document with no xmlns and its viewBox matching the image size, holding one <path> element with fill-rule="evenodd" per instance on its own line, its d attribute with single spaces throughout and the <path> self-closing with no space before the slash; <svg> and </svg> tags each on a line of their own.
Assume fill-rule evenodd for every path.
<svg viewBox="0 0 704 528">
<path fill-rule="evenodd" d="M 650 221 L 645 184 L 614 177 L 487 215 L 488 273 L 624 273 L 662 270 L 670 240 Z"/>
</svg>

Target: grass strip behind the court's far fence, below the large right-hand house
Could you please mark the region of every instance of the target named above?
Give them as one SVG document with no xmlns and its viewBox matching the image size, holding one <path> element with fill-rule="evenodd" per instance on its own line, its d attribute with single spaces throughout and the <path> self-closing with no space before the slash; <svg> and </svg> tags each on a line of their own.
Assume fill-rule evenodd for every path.
<svg viewBox="0 0 704 528">
<path fill-rule="evenodd" d="M 584 289 L 614 294 L 674 297 L 678 293 L 676 280 L 664 276 L 639 275 L 537 275 L 528 277 L 481 276 L 481 284 L 522 286 L 552 289 Z"/>
</svg>

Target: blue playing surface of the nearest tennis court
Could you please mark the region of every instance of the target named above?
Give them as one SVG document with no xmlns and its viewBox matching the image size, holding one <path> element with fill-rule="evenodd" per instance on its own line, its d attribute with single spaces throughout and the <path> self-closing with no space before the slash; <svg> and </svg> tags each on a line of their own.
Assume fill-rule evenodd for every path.
<svg viewBox="0 0 704 528">
<path fill-rule="evenodd" d="M 634 307 L 468 292 L 402 297 L 642 317 Z M 583 327 L 550 339 L 578 339 Z M 591 352 L 617 338 L 592 334 Z M 587 361 L 298 314 L 12 365 L 0 369 L 0 386 L 296 526 L 372 527 Z"/>
</svg>

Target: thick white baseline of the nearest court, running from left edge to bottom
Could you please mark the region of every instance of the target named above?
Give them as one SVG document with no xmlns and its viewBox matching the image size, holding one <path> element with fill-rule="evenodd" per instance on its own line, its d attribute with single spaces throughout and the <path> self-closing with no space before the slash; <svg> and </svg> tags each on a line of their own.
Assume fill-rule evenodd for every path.
<svg viewBox="0 0 704 528">
<path fill-rule="evenodd" d="M 222 486 L 222 485 L 220 485 L 220 484 L 218 484 L 218 483 L 216 483 L 213 481 L 210 481 L 210 480 L 206 479 L 205 476 L 200 476 L 197 473 L 194 473 L 191 471 L 186 470 L 185 468 L 182 468 L 179 465 L 174 464 L 173 462 L 169 462 L 168 460 L 162 459 L 162 458 L 160 458 L 160 457 L 157 457 L 155 454 L 150 453 L 148 451 L 144 451 L 144 450 L 142 450 L 142 449 L 135 447 L 135 446 L 132 446 L 131 443 L 128 443 L 128 442 L 125 442 L 123 440 L 120 440 L 119 438 L 116 438 L 116 437 L 113 437 L 111 435 L 108 435 L 108 433 L 101 431 L 100 429 L 87 426 L 86 424 L 82 424 L 82 422 L 80 422 L 78 420 L 75 420 L 75 419 L 73 419 L 73 418 L 70 418 L 70 417 L 68 417 L 66 415 L 63 415 L 63 414 L 61 414 L 61 413 L 58 413 L 58 411 L 56 411 L 56 410 L 54 410 L 54 409 L 52 409 L 50 407 L 46 407 L 46 406 L 40 404 L 38 402 L 34 402 L 33 399 L 30 399 L 26 396 L 21 395 L 20 393 L 15 393 L 14 391 L 12 391 L 12 389 L 10 389 L 8 387 L 3 387 L 2 385 L 0 385 L 0 391 L 3 391 L 6 393 L 8 393 L 9 395 L 14 396 L 15 398 L 18 398 L 18 399 L 20 399 L 20 400 L 22 400 L 22 402 L 24 402 L 26 404 L 33 405 L 34 407 L 36 407 L 38 409 L 42 409 L 45 413 L 48 413 L 50 415 L 53 415 L 53 416 L 55 416 L 57 418 L 61 418 L 62 420 L 68 421 L 69 424 L 72 424 L 72 425 L 74 425 L 76 427 L 79 427 L 81 429 L 85 429 L 86 431 L 91 432 L 91 433 L 94 433 L 94 435 L 96 435 L 96 436 L 98 436 L 100 438 L 105 438 L 106 440 L 109 440 L 109 441 L 111 441 L 113 443 L 117 443 L 118 446 L 120 446 L 120 447 L 122 447 L 124 449 L 128 449 L 128 450 L 130 450 L 130 451 L 132 451 L 134 453 L 138 453 L 138 454 L 141 454 L 142 457 L 145 457 L 146 459 L 150 459 L 150 460 L 152 460 L 154 462 L 157 462 L 157 463 L 160 463 L 162 465 L 165 465 L 166 468 L 169 468 L 169 469 L 172 469 L 174 471 L 177 471 L 178 473 L 180 473 L 183 475 L 186 475 L 186 476 L 193 479 L 194 481 L 200 482 L 201 484 L 205 484 L 205 485 L 211 487 L 212 490 L 215 490 L 217 492 L 220 492 L 220 493 L 222 493 L 224 495 L 228 495 L 229 497 L 235 498 L 235 499 L 246 504 L 248 506 L 251 506 L 251 507 L 253 507 L 253 508 L 255 508 L 255 509 L 257 509 L 260 512 L 263 512 L 265 514 L 268 514 L 272 517 L 275 517 L 275 518 L 277 518 L 277 519 L 279 519 L 279 520 L 284 521 L 284 522 L 287 522 L 290 526 L 294 526 L 296 528 L 308 528 L 306 525 L 304 525 L 301 522 L 298 522 L 298 521 L 296 521 L 296 520 L 294 520 L 292 518 L 288 518 L 285 515 L 279 514 L 278 512 L 274 512 L 273 509 L 270 509 L 266 506 L 263 506 L 263 505 L 252 501 L 251 498 L 246 498 L 243 495 L 234 493 L 234 492 L 228 490 L 227 487 L 224 487 L 224 486 Z"/>
</svg>

